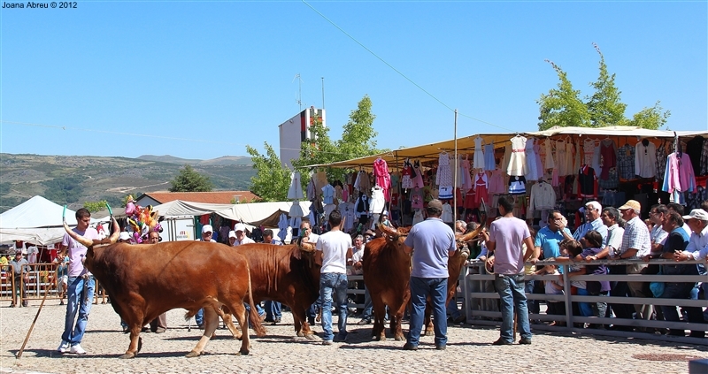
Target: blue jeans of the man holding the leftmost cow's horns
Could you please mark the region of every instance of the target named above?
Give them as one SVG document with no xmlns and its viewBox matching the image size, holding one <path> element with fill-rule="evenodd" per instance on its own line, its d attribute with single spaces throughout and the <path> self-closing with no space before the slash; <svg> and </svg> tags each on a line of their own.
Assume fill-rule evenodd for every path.
<svg viewBox="0 0 708 374">
<path fill-rule="evenodd" d="M 89 312 L 94 301 L 94 290 L 96 280 L 93 277 L 83 279 L 81 277 L 69 277 L 68 288 L 66 289 L 66 319 L 64 333 L 61 340 L 68 341 L 75 346 L 81 343 L 83 334 L 86 332 L 86 323 L 89 321 Z M 84 288 L 86 288 L 84 290 Z M 76 315 L 79 315 L 76 318 Z M 74 319 L 76 324 L 74 325 Z"/>
</svg>

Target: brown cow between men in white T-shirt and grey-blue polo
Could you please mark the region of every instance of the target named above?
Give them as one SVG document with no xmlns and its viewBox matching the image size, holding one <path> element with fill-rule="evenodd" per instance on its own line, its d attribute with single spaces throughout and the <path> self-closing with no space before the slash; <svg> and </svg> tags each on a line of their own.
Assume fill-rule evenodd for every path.
<svg viewBox="0 0 708 374">
<path fill-rule="evenodd" d="M 411 227 L 387 231 L 387 237 L 366 243 L 362 266 L 364 284 L 369 289 L 373 303 L 373 329 L 375 340 L 386 340 L 383 317 L 386 306 L 391 310 L 390 329 L 396 340 L 405 340 L 401 319 L 411 300 L 411 255 L 404 251 L 404 240 Z"/>
</svg>

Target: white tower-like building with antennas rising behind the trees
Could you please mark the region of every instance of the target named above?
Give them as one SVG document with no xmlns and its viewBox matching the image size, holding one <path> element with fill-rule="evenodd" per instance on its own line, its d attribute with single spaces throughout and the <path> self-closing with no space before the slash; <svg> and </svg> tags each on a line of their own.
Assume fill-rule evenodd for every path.
<svg viewBox="0 0 708 374">
<path fill-rule="evenodd" d="M 290 170 L 293 168 L 291 160 L 300 157 L 300 145 L 303 141 L 312 139 L 310 126 L 314 125 L 315 119 L 321 121 L 323 126 L 327 126 L 325 110 L 313 106 L 278 126 L 281 131 L 281 164 Z"/>
</svg>

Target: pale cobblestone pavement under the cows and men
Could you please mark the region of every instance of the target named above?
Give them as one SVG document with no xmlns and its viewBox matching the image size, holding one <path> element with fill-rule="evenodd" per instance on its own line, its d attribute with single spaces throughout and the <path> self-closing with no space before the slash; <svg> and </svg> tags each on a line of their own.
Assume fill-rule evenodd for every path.
<svg viewBox="0 0 708 374">
<path fill-rule="evenodd" d="M 297 338 L 292 318 L 284 313 L 283 324 L 266 324 L 266 338 L 251 340 L 250 355 L 235 353 L 240 342 L 227 330 L 206 347 L 207 355 L 185 358 L 201 335 L 188 331 L 184 311 L 168 312 L 169 329 L 164 334 L 142 333 L 142 351 L 132 360 L 120 360 L 128 345 L 119 317 L 111 305 L 94 305 L 81 346 L 84 356 L 58 355 L 65 307 L 47 301 L 35 324 L 22 357 L 15 356 L 35 318 L 39 301 L 30 308 L 0 308 L 0 372 L 14 373 L 231 373 L 231 372 L 328 372 L 328 373 L 417 373 L 417 372 L 513 372 L 513 373 L 673 373 L 688 372 L 681 361 L 647 361 L 640 354 L 689 355 L 708 358 L 708 347 L 685 346 L 651 340 L 627 340 L 537 332 L 531 346 L 492 346 L 499 336 L 489 327 L 451 325 L 447 350 L 435 350 L 432 337 L 423 337 L 416 352 L 401 349 L 404 342 L 372 341 L 371 325 L 358 326 L 350 317 L 350 335 L 345 343 L 322 346 L 320 340 Z M 336 320 L 336 317 L 335 317 Z M 321 327 L 317 326 L 317 332 Z M 407 325 L 404 326 L 404 330 Z M 253 336 L 253 335 L 251 335 Z M 664 356 L 666 357 L 666 356 Z"/>
</svg>

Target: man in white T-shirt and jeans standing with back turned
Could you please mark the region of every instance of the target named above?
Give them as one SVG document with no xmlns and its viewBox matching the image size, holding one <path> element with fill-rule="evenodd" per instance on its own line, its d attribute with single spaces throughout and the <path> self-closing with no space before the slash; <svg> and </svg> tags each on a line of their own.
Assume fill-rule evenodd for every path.
<svg viewBox="0 0 708 374">
<path fill-rule="evenodd" d="M 328 233 L 319 236 L 315 248 L 315 261 L 322 263 L 319 275 L 319 298 L 322 301 L 322 344 L 332 345 L 333 340 L 345 341 L 347 338 L 347 259 L 351 257 L 351 237 L 342 232 L 342 213 L 333 210 L 329 213 Z M 332 331 L 332 296 L 336 294 L 339 309 L 338 330 L 335 337 Z"/>
</svg>

